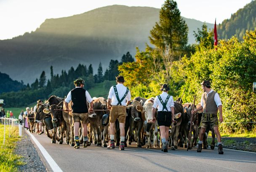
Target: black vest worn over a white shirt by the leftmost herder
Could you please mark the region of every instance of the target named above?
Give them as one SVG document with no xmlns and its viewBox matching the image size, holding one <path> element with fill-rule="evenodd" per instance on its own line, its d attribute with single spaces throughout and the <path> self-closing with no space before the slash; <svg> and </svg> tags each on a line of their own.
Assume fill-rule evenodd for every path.
<svg viewBox="0 0 256 172">
<path fill-rule="evenodd" d="M 72 112 L 73 113 L 88 113 L 86 104 L 85 89 L 75 88 L 71 90 L 71 99 L 73 102 Z"/>
</svg>

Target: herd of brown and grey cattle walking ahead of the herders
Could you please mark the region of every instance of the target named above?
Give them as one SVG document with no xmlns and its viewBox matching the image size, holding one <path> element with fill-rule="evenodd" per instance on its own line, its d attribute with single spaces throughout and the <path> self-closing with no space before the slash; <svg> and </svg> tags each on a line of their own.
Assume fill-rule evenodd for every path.
<svg viewBox="0 0 256 172">
<path fill-rule="evenodd" d="M 154 98 L 144 99 L 142 97 L 135 97 L 131 102 L 132 106 L 126 108 L 127 116 L 125 121 L 125 147 L 127 144 L 131 145 L 134 141 L 137 147 L 146 148 L 161 147 L 161 143 L 158 141 L 158 133 L 160 135 L 159 128 L 157 127 L 157 121 L 152 123 L 153 115 L 157 117 L 157 111 L 152 114 Z M 198 104 L 197 106 L 199 106 Z M 72 109 L 72 102 L 69 102 L 69 109 Z M 189 149 L 197 145 L 197 138 L 199 134 L 199 124 L 202 117 L 202 112 L 197 113 L 192 120 L 192 132 L 193 141 L 187 144 L 187 138 L 189 136 L 189 128 L 191 125 L 193 104 L 186 103 L 181 104 L 174 102 L 175 120 L 172 122 L 169 130 L 169 147 L 172 150 L 181 147 L 189 146 Z M 64 137 L 66 137 L 66 143 L 70 146 L 75 145 L 74 141 L 74 128 L 71 112 L 65 111 L 64 99 L 51 96 L 45 103 L 37 103 L 35 111 L 35 121 L 40 120 L 45 125 L 46 134 L 51 138 L 51 143 L 59 144 L 63 143 Z M 97 146 L 107 147 L 109 141 L 109 110 L 107 109 L 107 100 L 103 97 L 93 98 L 93 112 L 88 114 L 88 139 L 91 143 Z M 33 123 L 33 120 L 29 120 Z M 30 126 L 33 126 L 31 124 Z M 115 122 L 115 144 L 119 146 L 120 143 L 120 129 L 118 120 Z M 33 130 L 31 130 L 33 131 Z M 80 132 L 82 133 L 82 132 Z M 214 149 L 215 135 L 212 131 L 212 143 L 211 149 Z M 102 144 L 103 139 L 103 144 Z M 161 139 L 160 139 L 161 141 Z M 80 136 L 80 142 L 83 142 L 83 136 Z M 205 133 L 203 139 L 203 148 L 208 147 L 207 134 Z"/>
</svg>

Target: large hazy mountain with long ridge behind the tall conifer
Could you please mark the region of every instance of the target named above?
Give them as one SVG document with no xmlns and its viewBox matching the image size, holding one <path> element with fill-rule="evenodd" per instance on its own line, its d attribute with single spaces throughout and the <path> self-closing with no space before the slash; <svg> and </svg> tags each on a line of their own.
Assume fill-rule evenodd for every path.
<svg viewBox="0 0 256 172">
<path fill-rule="evenodd" d="M 159 10 L 149 7 L 112 5 L 70 17 L 46 19 L 36 31 L 0 41 L 0 71 L 11 78 L 32 83 L 44 70 L 54 73 L 75 68 L 79 63 L 92 64 L 94 72 L 101 62 L 103 70 L 109 61 L 119 60 L 126 52 L 134 57 L 136 47 L 149 44 L 149 31 L 159 20 Z M 184 18 L 189 27 L 189 43 L 193 31 L 203 22 Z M 206 23 L 208 28 L 213 24 Z"/>
</svg>

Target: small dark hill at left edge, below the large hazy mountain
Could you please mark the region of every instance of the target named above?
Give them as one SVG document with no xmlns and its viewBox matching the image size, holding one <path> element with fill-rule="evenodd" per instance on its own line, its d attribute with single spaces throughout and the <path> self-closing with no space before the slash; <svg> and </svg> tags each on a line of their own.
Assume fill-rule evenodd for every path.
<svg viewBox="0 0 256 172">
<path fill-rule="evenodd" d="M 18 81 L 13 81 L 7 74 L 0 72 L 0 94 L 10 91 L 19 91 L 26 86 Z"/>
</svg>

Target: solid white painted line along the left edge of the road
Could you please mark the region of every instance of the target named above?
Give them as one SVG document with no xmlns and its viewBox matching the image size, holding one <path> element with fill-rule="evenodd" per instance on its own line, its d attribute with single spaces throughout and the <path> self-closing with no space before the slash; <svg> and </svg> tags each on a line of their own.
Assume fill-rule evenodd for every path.
<svg viewBox="0 0 256 172">
<path fill-rule="evenodd" d="M 61 170 L 61 168 L 59 167 L 59 165 L 53 160 L 51 155 L 48 154 L 48 152 L 45 150 L 45 148 L 39 143 L 39 141 L 37 141 L 35 136 L 33 136 L 30 132 L 26 131 L 26 133 L 32 138 L 32 140 L 36 144 L 37 148 L 40 150 L 41 154 L 44 156 L 46 162 L 50 165 L 51 169 L 54 172 L 63 172 Z"/>
</svg>

